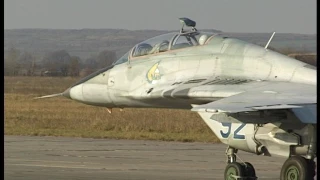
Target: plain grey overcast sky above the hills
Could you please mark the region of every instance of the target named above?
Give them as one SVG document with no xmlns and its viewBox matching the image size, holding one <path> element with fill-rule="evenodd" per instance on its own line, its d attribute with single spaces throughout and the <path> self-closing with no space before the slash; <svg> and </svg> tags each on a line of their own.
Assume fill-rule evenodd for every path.
<svg viewBox="0 0 320 180">
<path fill-rule="evenodd" d="M 5 0 L 5 29 L 180 28 L 316 34 L 317 0 Z"/>
</svg>

